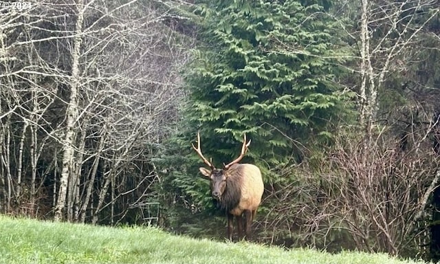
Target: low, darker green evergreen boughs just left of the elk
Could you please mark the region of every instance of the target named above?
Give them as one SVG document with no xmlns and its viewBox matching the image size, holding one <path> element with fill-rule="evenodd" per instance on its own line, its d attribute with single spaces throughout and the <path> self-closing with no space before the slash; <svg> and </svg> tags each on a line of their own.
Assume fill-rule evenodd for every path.
<svg viewBox="0 0 440 264">
<path fill-rule="evenodd" d="M 203 162 L 191 148 L 197 132 L 188 120 L 181 120 L 179 128 L 164 142 L 162 153 L 153 159 L 161 179 L 155 185 L 159 195 L 154 199 L 162 204 L 162 223 L 178 234 L 210 237 L 214 234 L 223 238 L 224 224 L 213 217 L 218 212 L 212 203 L 209 181 L 198 170 Z"/>
</svg>

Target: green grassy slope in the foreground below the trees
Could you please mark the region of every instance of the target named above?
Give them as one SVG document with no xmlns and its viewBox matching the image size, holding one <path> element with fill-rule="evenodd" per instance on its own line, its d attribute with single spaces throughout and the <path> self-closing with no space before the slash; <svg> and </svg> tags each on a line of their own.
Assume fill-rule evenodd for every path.
<svg viewBox="0 0 440 264">
<path fill-rule="evenodd" d="M 282 250 L 173 236 L 156 228 L 109 228 L 0 215 L 0 263 L 416 263 L 385 254 Z M 421 262 L 419 262 L 421 263 Z"/>
</svg>

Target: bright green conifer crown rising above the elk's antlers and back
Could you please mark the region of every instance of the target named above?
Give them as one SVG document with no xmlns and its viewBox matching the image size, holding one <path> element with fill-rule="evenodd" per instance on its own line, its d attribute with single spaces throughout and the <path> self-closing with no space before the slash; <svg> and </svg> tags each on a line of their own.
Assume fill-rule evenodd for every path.
<svg viewBox="0 0 440 264">
<path fill-rule="evenodd" d="M 237 155 L 243 133 L 263 170 L 298 161 L 296 140 L 327 140 L 346 111 L 352 94 L 336 80 L 347 50 L 320 1 L 302 2 L 198 3 L 201 48 L 185 79 L 190 120 L 217 166 Z"/>
</svg>

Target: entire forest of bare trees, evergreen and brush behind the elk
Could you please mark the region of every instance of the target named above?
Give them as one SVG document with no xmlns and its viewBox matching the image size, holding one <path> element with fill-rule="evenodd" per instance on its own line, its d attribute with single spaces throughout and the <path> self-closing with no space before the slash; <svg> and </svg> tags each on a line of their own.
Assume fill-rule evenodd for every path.
<svg viewBox="0 0 440 264">
<path fill-rule="evenodd" d="M 0 2 L 0 212 L 222 239 L 192 150 L 263 172 L 254 239 L 440 259 L 437 0 Z"/>
</svg>

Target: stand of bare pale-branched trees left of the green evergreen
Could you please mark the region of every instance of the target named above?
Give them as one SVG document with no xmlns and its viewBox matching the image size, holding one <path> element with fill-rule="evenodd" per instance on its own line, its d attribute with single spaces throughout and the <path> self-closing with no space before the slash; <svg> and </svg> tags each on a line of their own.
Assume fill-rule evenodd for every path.
<svg viewBox="0 0 440 264">
<path fill-rule="evenodd" d="M 1 210 L 113 223 L 157 181 L 186 60 L 166 12 L 34 1 L 1 15 Z"/>
</svg>

